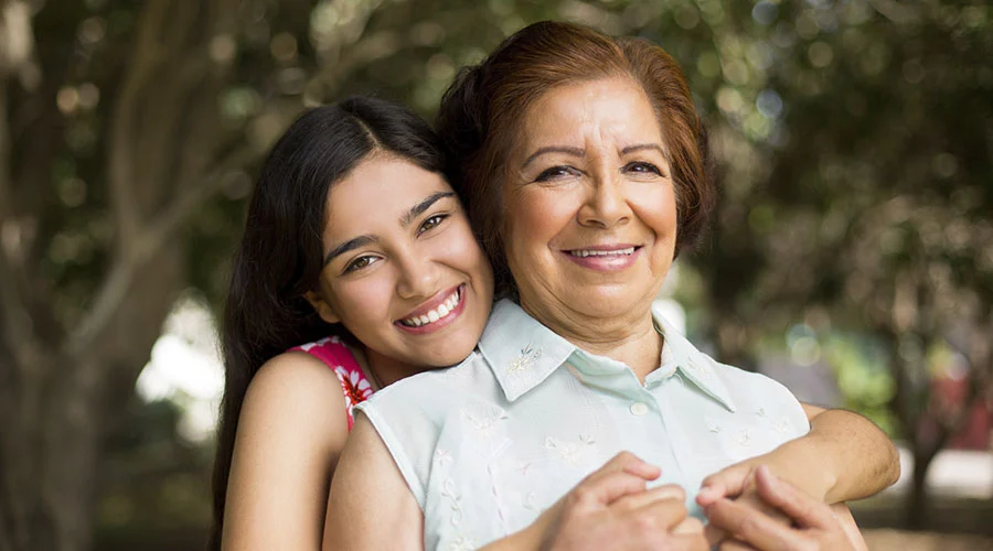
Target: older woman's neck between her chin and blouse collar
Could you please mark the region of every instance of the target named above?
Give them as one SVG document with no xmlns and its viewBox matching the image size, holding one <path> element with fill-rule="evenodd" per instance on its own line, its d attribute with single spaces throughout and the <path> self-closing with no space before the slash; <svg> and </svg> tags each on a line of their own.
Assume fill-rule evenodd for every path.
<svg viewBox="0 0 993 551">
<path fill-rule="evenodd" d="M 651 307 L 611 317 L 585 316 L 567 309 L 530 307 L 523 301 L 521 307 L 577 347 L 623 363 L 641 382 L 659 367 L 662 335 L 655 331 Z"/>
</svg>

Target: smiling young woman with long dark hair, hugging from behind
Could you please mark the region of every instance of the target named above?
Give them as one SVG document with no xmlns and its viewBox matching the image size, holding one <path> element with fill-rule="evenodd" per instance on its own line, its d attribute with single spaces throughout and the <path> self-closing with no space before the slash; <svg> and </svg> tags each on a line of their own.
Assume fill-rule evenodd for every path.
<svg viewBox="0 0 993 551">
<path fill-rule="evenodd" d="M 479 341 L 493 276 L 436 140 L 405 108 L 352 98 L 307 111 L 266 160 L 223 324 L 211 549 L 222 533 L 225 549 L 319 549 L 351 407 Z M 783 458 L 844 430 L 866 466 L 841 479 L 875 488 L 888 441 L 844 412 L 812 425 L 800 441 L 820 447 Z"/>
</svg>

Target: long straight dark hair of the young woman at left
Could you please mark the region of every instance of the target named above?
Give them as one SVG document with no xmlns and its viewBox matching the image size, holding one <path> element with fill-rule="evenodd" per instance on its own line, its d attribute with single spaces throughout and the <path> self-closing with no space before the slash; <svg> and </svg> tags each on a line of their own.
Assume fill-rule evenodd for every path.
<svg viewBox="0 0 993 551">
<path fill-rule="evenodd" d="M 214 460 L 211 550 L 221 548 L 235 433 L 252 378 L 286 349 L 343 331 L 324 323 L 303 293 L 317 289 L 323 267 L 328 192 L 373 152 L 442 172 L 437 138 L 420 117 L 399 105 L 365 97 L 307 110 L 263 165 L 224 309 L 225 381 Z"/>
</svg>

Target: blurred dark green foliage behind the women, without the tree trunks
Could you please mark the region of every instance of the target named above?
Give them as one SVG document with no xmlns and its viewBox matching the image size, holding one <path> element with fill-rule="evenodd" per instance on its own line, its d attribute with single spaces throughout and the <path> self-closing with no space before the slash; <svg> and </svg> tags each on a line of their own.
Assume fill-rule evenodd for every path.
<svg viewBox="0 0 993 551">
<path fill-rule="evenodd" d="M 42 168 L 52 185 L 41 273 L 71 324 L 106 274 L 105 138 L 145 3 L 38 4 L 38 55 L 58 80 L 14 94 L 13 153 L 17 132 L 58 142 Z M 206 53 L 232 65 L 216 98 L 225 130 L 258 154 L 225 176 L 174 244 L 189 285 L 214 305 L 261 153 L 300 109 L 376 94 L 431 117 L 458 67 L 528 22 L 569 19 L 655 41 L 690 78 L 723 194 L 713 237 L 681 260 L 690 282 L 681 296 L 722 359 L 754 366 L 757 343 L 807 323 L 829 335 L 820 346 L 846 406 L 911 441 L 929 411 L 928 350 L 960 350 L 989 389 L 987 2 L 245 0 L 238 9 L 237 29 Z M 33 121 L 32 108 L 52 100 L 61 116 Z M 98 547 L 125 545 L 131 529 L 206 521 L 210 450 L 182 441 L 170 408 L 136 402 L 114 430 Z"/>
</svg>

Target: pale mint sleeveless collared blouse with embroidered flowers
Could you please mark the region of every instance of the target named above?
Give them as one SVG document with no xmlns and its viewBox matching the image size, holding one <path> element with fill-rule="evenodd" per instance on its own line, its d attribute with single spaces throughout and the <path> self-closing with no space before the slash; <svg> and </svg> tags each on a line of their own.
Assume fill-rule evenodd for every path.
<svg viewBox="0 0 993 551">
<path fill-rule="evenodd" d="M 531 523 L 628 450 L 685 488 L 810 430 L 782 385 L 719 364 L 656 311 L 660 367 L 644 385 L 501 301 L 479 347 L 356 408 L 378 431 L 424 511 L 426 549 L 476 549 Z"/>
</svg>

